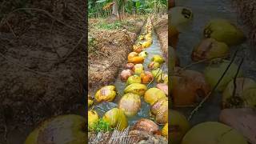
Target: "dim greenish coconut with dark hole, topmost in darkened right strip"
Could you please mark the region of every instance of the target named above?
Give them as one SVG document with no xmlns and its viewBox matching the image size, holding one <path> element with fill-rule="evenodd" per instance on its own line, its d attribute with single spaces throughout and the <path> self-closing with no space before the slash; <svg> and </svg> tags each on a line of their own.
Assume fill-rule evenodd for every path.
<svg viewBox="0 0 256 144">
<path fill-rule="evenodd" d="M 190 22 L 193 19 L 192 10 L 183 6 L 175 6 L 169 10 L 169 21 L 172 26 L 179 26 Z"/>
</svg>

